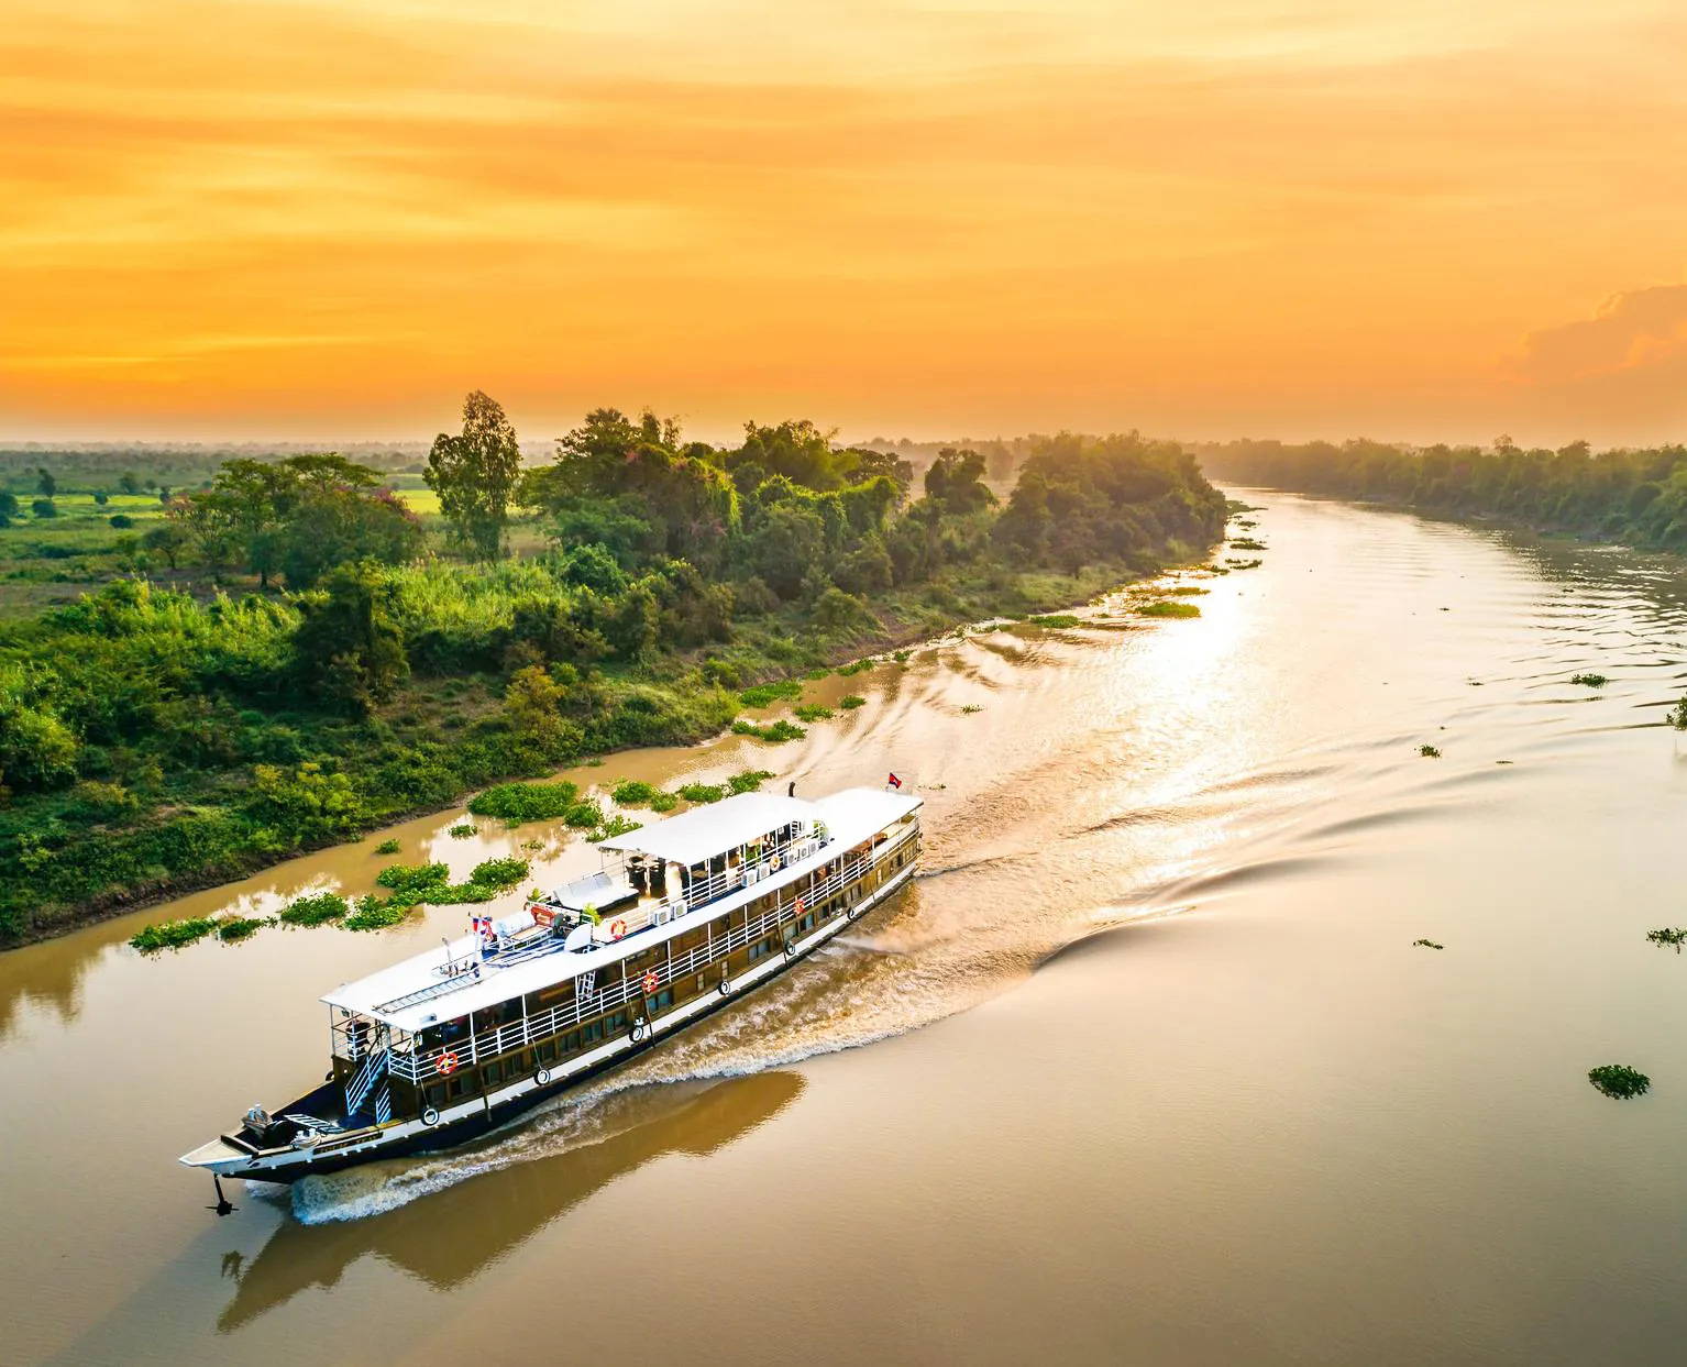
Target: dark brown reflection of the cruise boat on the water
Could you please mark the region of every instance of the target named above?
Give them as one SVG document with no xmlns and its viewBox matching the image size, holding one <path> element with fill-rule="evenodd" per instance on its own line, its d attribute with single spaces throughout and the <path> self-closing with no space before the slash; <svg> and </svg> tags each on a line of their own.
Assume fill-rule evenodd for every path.
<svg viewBox="0 0 1687 1367">
<path fill-rule="evenodd" d="M 665 1154 L 707 1158 L 771 1121 L 801 1090 L 796 1073 L 766 1072 L 621 1092 L 596 1107 L 599 1137 L 493 1168 L 428 1202 L 368 1218 L 327 1225 L 283 1220 L 250 1262 L 240 1252 L 226 1254 L 223 1266 L 236 1291 L 218 1316 L 218 1330 L 238 1330 L 309 1288 L 332 1288 L 353 1262 L 371 1254 L 449 1291 L 616 1178 Z M 472 1156 L 461 1161 L 472 1163 Z M 442 1229 L 450 1230 L 449 1239 L 440 1237 Z"/>
</svg>

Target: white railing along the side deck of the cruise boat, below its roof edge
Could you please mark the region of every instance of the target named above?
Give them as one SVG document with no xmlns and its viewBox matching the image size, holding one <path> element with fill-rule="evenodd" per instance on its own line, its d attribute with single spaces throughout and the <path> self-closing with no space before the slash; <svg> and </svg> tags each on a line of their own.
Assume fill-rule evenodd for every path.
<svg viewBox="0 0 1687 1367">
<path fill-rule="evenodd" d="M 454 1040 L 427 1050 L 415 1050 L 413 1046 L 407 1048 L 407 1045 L 413 1045 L 413 1036 L 408 1040 L 395 1040 L 388 1068 L 395 1077 L 403 1077 L 415 1083 L 434 1082 L 435 1078 L 447 1077 L 455 1068 L 479 1063 L 482 1058 L 496 1058 L 501 1053 L 509 1053 L 513 1050 L 550 1040 L 577 1024 L 585 1024 L 597 1016 L 614 1011 L 617 1006 L 624 1006 L 629 1001 L 641 1002 L 646 996 L 655 996 L 655 992 L 660 992 L 665 986 L 687 977 L 688 974 L 702 972 L 710 964 L 719 962 L 736 950 L 778 932 L 781 923 L 795 916 L 801 916 L 806 911 L 822 911 L 832 898 L 859 883 L 869 869 L 889 859 L 918 834 L 918 827 L 911 827 L 901 835 L 886 840 L 882 846 L 870 851 L 842 856 L 844 864 L 837 869 L 837 873 L 815 881 L 811 888 L 803 888 L 801 879 L 783 884 L 778 889 L 778 901 L 774 906 L 763 911 L 759 916 L 747 918 L 744 925 L 732 927 L 729 933 L 719 940 L 714 938 L 712 927 L 709 938 L 685 954 L 675 954 L 673 942 L 670 940 L 666 962 L 651 965 L 649 969 L 641 969 L 633 977 L 626 975 L 626 960 L 621 960 L 619 965 L 609 965 L 611 969 L 621 969 L 623 975 L 619 979 L 602 984 L 592 981 L 592 987 L 587 991 L 584 984 L 590 981 L 589 974 L 592 974 L 592 970 L 585 969 L 575 977 L 575 999 L 563 1006 L 553 1006 L 548 1011 L 523 1016 L 520 1021 L 509 1021 L 508 1024 L 494 1026 L 493 1029 L 482 1029 L 479 1035 L 469 1035 L 462 1040 Z M 796 910 L 798 901 L 803 903 L 801 911 Z M 644 979 L 648 974 L 655 974 L 655 984 L 649 992 L 644 989 Z M 439 1063 L 447 1053 L 452 1055 L 452 1063 L 447 1072 L 442 1073 L 439 1070 Z"/>
</svg>

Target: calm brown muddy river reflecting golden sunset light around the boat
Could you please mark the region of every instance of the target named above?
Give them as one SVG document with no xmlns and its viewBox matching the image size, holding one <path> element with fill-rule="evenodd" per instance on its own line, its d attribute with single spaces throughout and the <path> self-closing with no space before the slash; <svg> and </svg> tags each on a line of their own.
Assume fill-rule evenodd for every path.
<svg viewBox="0 0 1687 1367">
<path fill-rule="evenodd" d="M 1199 619 L 950 640 L 828 680 L 869 702 L 806 741 L 575 775 L 894 768 L 923 876 L 472 1151 L 226 1220 L 175 1164 L 466 908 L 125 942 L 363 891 L 388 834 L 552 881 L 596 862 L 565 834 L 442 813 L 0 957 L 5 1360 L 1684 1360 L 1687 955 L 1645 932 L 1687 923 L 1687 577 L 1255 501 L 1265 564 Z"/>
</svg>

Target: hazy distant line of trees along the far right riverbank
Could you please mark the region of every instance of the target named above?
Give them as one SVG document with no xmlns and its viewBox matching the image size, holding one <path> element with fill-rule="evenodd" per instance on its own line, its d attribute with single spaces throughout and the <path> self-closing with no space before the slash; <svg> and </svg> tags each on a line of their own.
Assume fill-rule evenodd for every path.
<svg viewBox="0 0 1687 1367">
<path fill-rule="evenodd" d="M 1572 442 L 1549 451 L 1501 437 L 1491 447 L 1238 440 L 1199 451 L 1220 479 L 1243 484 L 1687 550 L 1684 446 L 1593 451 Z"/>
</svg>

